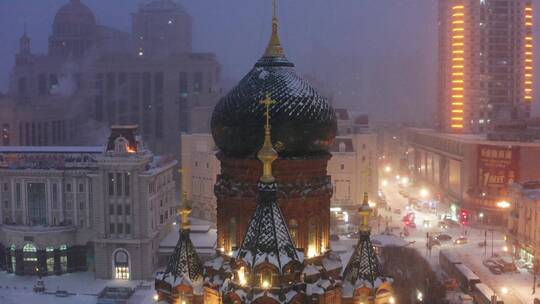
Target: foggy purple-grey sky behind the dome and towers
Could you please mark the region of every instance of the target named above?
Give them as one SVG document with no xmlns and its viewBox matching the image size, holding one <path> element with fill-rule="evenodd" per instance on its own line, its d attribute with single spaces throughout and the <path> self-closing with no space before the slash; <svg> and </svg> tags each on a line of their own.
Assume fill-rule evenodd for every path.
<svg viewBox="0 0 540 304">
<path fill-rule="evenodd" d="M 24 23 L 32 51 L 45 53 L 54 14 L 68 1 L 0 0 L 0 91 L 6 91 Z M 130 13 L 141 2 L 82 1 L 94 11 L 98 24 L 128 32 Z M 194 50 L 216 53 L 225 78 L 236 82 L 263 53 L 270 0 L 177 2 L 194 18 Z M 533 2 L 538 14 L 540 1 Z M 281 0 L 278 6 L 287 57 L 299 73 L 332 89 L 335 105 L 368 113 L 375 120 L 433 120 L 437 0 Z"/>
</svg>

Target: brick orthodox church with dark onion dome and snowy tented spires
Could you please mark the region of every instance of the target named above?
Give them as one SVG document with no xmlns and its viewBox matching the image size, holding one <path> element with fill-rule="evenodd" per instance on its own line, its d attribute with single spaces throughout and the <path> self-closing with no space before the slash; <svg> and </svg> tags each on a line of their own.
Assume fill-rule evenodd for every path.
<svg viewBox="0 0 540 304">
<path fill-rule="evenodd" d="M 330 250 L 328 148 L 336 114 L 294 72 L 272 35 L 254 68 L 212 116 L 219 148 L 218 250 L 201 262 L 183 201 L 178 244 L 155 288 L 162 303 L 394 303 L 370 239 L 367 195 L 349 261 Z"/>
</svg>

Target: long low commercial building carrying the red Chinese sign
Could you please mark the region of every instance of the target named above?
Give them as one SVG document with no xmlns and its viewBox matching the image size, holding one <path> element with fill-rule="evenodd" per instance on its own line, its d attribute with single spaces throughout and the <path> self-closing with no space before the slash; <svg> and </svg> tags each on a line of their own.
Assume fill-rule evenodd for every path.
<svg viewBox="0 0 540 304">
<path fill-rule="evenodd" d="M 489 141 L 481 134 L 408 129 L 409 175 L 432 188 L 440 212 L 502 224 L 513 183 L 540 179 L 540 142 Z M 463 213 L 464 212 L 464 213 Z"/>
</svg>

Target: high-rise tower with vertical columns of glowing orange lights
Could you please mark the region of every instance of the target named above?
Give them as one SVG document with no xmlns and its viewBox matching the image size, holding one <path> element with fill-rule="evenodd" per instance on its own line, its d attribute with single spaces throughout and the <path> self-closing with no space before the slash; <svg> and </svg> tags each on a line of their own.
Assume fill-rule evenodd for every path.
<svg viewBox="0 0 540 304">
<path fill-rule="evenodd" d="M 532 11 L 531 0 L 439 1 L 442 131 L 483 133 L 530 115 Z"/>
</svg>

